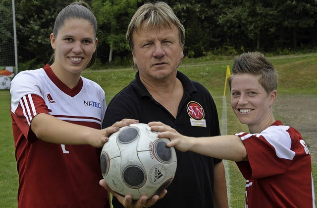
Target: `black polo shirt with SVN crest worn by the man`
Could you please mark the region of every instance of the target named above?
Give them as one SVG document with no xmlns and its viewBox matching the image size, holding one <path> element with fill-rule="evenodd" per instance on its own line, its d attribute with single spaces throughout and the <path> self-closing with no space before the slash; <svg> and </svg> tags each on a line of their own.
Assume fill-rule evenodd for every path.
<svg viewBox="0 0 317 208">
<path fill-rule="evenodd" d="M 140 123 L 160 121 L 180 134 L 192 137 L 220 135 L 216 105 L 210 92 L 200 83 L 177 71 L 184 94 L 176 119 L 159 104 L 142 84 L 139 72 L 135 79 L 113 97 L 106 109 L 103 128 L 124 118 Z M 213 165 L 221 160 L 191 151 L 177 154 L 177 169 L 167 194 L 151 208 L 213 208 Z M 123 206 L 114 197 L 114 208 Z"/>
</svg>

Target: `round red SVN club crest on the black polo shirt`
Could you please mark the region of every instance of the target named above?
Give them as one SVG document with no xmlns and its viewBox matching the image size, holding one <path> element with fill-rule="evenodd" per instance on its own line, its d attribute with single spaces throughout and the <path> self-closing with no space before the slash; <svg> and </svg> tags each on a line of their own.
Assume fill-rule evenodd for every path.
<svg viewBox="0 0 317 208">
<path fill-rule="evenodd" d="M 207 127 L 205 118 L 205 111 L 201 104 L 195 101 L 190 101 L 187 104 L 187 113 L 190 117 L 190 124 L 193 127 Z"/>
</svg>

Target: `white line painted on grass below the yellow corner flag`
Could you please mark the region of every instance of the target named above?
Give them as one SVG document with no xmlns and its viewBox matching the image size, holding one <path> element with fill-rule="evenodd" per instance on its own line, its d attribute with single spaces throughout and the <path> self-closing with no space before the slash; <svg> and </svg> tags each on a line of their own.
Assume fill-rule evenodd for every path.
<svg viewBox="0 0 317 208">
<path fill-rule="evenodd" d="M 226 97 L 222 97 L 222 114 L 221 114 L 221 135 L 227 135 L 227 101 Z M 228 161 L 223 160 L 224 170 L 225 170 L 225 176 L 226 176 L 226 182 L 227 182 L 227 194 L 228 194 L 228 203 L 229 208 L 231 208 L 230 201 L 231 201 L 231 194 L 230 194 L 230 173 L 229 173 L 229 166 Z"/>
</svg>

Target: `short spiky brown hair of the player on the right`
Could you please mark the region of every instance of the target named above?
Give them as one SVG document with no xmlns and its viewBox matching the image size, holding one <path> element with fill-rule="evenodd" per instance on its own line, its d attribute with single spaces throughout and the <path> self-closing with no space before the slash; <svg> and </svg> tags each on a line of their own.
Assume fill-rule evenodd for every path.
<svg viewBox="0 0 317 208">
<path fill-rule="evenodd" d="M 277 89 L 277 72 L 273 65 L 260 52 L 243 53 L 233 61 L 232 74 L 229 77 L 229 87 L 235 74 L 250 73 L 260 75 L 259 83 L 267 94 Z"/>
</svg>

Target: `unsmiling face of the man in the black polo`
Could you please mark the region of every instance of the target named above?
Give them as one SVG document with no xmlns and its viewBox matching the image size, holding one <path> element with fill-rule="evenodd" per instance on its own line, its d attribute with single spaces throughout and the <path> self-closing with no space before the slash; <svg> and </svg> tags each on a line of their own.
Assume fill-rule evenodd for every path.
<svg viewBox="0 0 317 208">
<path fill-rule="evenodd" d="M 141 79 L 163 79 L 173 74 L 184 57 L 175 25 L 164 28 L 145 28 L 133 33 L 133 62 Z"/>
</svg>

